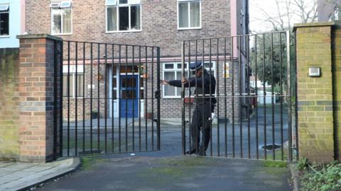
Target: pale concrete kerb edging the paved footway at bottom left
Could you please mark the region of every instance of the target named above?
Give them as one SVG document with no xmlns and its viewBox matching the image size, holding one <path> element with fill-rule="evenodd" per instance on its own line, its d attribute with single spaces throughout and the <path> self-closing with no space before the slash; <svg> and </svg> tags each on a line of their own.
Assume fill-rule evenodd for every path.
<svg viewBox="0 0 341 191">
<path fill-rule="evenodd" d="M 59 158 L 57 161 L 66 161 L 66 160 L 72 160 L 72 163 L 70 166 L 68 166 L 67 168 L 63 169 L 63 170 L 59 170 L 56 173 L 53 173 L 52 175 L 45 175 L 42 178 L 37 178 L 36 181 L 32 181 L 32 183 L 30 185 L 22 185 L 22 187 L 18 187 L 17 190 L 31 190 L 31 187 L 36 187 L 37 185 L 41 185 L 43 183 L 48 183 L 51 180 L 55 180 L 57 178 L 63 177 L 65 175 L 68 175 L 70 173 L 75 172 L 75 170 L 78 170 L 80 168 L 80 158 Z"/>
</svg>

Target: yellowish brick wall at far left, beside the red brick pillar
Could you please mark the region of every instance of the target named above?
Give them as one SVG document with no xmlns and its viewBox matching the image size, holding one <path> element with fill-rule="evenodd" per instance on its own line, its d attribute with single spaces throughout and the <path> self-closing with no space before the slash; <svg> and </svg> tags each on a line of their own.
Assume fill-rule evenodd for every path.
<svg viewBox="0 0 341 191">
<path fill-rule="evenodd" d="M 0 161 L 18 160 L 18 49 L 0 50 Z"/>
</svg>

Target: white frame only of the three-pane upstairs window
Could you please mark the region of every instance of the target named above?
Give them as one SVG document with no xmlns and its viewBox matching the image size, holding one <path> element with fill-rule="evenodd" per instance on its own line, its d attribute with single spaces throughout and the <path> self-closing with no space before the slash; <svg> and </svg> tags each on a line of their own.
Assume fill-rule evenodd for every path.
<svg viewBox="0 0 341 191">
<path fill-rule="evenodd" d="M 107 4 L 105 5 L 105 33 L 134 33 L 134 32 L 141 32 L 142 31 L 142 5 L 141 1 L 139 1 L 139 4 L 131 3 L 129 4 L 129 0 L 127 1 L 127 4 L 119 4 L 119 0 L 116 1 L 115 4 Z M 134 2 L 134 1 L 133 1 Z M 140 6 L 140 29 L 139 30 L 131 30 L 131 6 Z M 108 30 L 108 7 L 116 7 L 116 14 L 117 14 L 117 23 L 116 27 L 117 30 Z M 119 30 L 119 7 L 129 7 L 129 30 Z"/>
</svg>

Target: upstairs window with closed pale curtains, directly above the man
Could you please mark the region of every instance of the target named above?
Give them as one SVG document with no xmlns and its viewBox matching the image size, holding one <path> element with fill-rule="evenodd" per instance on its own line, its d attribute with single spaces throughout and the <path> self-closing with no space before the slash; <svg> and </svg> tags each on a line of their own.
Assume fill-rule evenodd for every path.
<svg viewBox="0 0 341 191">
<path fill-rule="evenodd" d="M 178 0 L 178 29 L 201 28 L 201 1 Z"/>
</svg>

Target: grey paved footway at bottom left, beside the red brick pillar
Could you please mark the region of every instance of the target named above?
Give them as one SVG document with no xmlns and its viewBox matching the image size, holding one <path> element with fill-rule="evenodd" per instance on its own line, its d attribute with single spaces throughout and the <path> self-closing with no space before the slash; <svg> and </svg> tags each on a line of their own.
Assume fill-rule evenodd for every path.
<svg viewBox="0 0 341 191">
<path fill-rule="evenodd" d="M 79 166 L 77 158 L 53 163 L 0 162 L 0 190 L 21 190 L 70 173 Z"/>
</svg>

